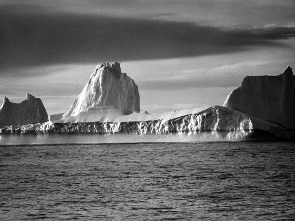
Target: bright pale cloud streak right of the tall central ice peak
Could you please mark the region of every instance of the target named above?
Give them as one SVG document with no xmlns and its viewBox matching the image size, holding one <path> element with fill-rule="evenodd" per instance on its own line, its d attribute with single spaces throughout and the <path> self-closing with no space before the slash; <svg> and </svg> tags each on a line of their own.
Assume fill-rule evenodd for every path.
<svg viewBox="0 0 295 221">
<path fill-rule="evenodd" d="M 174 91 L 178 93 L 184 89 L 204 88 L 228 88 L 238 87 L 246 75 L 279 75 L 284 71 L 287 65 L 293 65 L 290 58 L 281 60 L 280 53 L 283 50 L 266 50 L 267 52 L 256 52 L 249 56 L 248 53 L 236 53 L 225 56 L 207 56 L 198 59 L 190 59 L 179 67 L 170 66 L 170 74 L 161 74 L 156 72 L 152 77 L 141 78 L 137 84 L 141 91 Z M 275 51 L 273 55 L 270 53 Z M 290 49 L 290 52 L 293 50 Z M 289 54 L 287 51 L 284 55 Z M 213 62 L 214 60 L 214 62 Z M 242 60 L 242 61 L 241 61 Z M 194 62 L 192 62 L 194 61 Z M 161 64 L 159 64 L 160 66 Z M 195 69 L 192 69 L 193 67 Z"/>
</svg>

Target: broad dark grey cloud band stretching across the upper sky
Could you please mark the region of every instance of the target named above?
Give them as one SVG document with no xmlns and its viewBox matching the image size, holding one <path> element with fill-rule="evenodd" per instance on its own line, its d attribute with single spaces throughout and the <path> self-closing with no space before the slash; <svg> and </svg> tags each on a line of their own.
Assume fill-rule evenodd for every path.
<svg viewBox="0 0 295 221">
<path fill-rule="evenodd" d="M 20 14 L 8 6 L 0 7 L 2 69 L 228 54 L 277 45 L 276 40 L 295 35 L 295 27 L 229 29 L 46 10 Z M 29 10 L 28 5 L 21 9 Z"/>
</svg>

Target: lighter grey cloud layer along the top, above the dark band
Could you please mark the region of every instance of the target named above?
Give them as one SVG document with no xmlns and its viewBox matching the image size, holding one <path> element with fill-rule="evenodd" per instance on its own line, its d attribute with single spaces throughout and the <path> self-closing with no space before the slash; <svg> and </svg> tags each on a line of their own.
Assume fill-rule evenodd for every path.
<svg viewBox="0 0 295 221">
<path fill-rule="evenodd" d="M 204 26 L 280 26 L 295 20 L 294 0 L 2 0 L 10 11 L 142 18 Z M 26 7 L 27 6 L 27 7 Z M 29 7 L 28 7 L 29 6 Z"/>
</svg>

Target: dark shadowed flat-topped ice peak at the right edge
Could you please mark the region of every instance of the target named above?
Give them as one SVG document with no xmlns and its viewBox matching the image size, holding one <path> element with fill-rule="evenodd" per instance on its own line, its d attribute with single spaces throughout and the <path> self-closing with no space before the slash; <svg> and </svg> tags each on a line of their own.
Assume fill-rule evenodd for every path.
<svg viewBox="0 0 295 221">
<path fill-rule="evenodd" d="M 278 76 L 244 78 L 223 104 L 287 128 L 295 128 L 295 76 L 287 67 Z"/>
</svg>

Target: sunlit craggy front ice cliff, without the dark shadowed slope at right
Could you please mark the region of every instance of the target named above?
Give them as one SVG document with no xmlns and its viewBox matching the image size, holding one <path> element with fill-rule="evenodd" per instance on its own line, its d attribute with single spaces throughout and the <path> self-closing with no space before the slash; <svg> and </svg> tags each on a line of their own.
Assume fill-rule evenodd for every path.
<svg viewBox="0 0 295 221">
<path fill-rule="evenodd" d="M 52 123 L 9 126 L 2 132 L 14 131 L 54 131 L 58 133 L 127 133 L 166 134 L 189 131 L 236 131 L 253 129 L 251 119 L 246 115 L 220 106 L 212 106 L 195 114 L 187 114 L 173 119 L 154 119 L 128 122 L 85 122 Z"/>
</svg>

